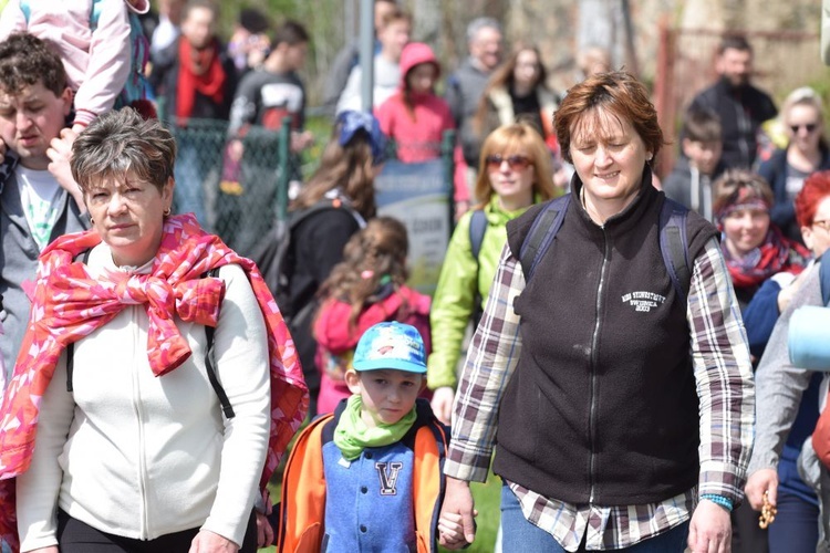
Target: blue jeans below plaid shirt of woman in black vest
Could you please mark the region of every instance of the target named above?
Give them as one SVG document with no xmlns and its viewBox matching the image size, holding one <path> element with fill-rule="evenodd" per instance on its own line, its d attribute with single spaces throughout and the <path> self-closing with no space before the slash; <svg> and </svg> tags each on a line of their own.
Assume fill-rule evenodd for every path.
<svg viewBox="0 0 830 553">
<path fill-rule="evenodd" d="M 544 551 L 546 553 L 564 553 L 566 551 L 552 535 L 525 518 L 519 500 L 507 484 L 501 487 L 501 528 L 504 551 Z M 688 521 L 630 547 L 611 551 L 683 553 L 687 539 Z M 581 545 L 578 551 L 585 551 L 584 545 Z"/>
</svg>

